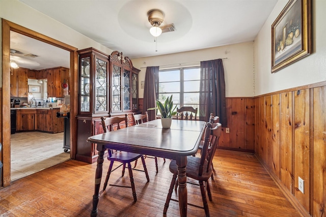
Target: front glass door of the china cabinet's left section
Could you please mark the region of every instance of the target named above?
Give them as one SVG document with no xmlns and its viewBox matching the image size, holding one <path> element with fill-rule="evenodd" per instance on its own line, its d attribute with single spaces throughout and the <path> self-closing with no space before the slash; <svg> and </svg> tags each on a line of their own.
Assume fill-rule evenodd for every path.
<svg viewBox="0 0 326 217">
<path fill-rule="evenodd" d="M 107 111 L 107 62 L 96 58 L 94 79 L 95 113 Z"/>
</svg>

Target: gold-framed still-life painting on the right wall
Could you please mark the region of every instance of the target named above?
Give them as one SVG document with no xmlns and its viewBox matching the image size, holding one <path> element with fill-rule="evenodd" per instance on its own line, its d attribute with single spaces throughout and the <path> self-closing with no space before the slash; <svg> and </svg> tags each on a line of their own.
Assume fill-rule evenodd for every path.
<svg viewBox="0 0 326 217">
<path fill-rule="evenodd" d="M 311 52 L 311 0 L 290 0 L 271 24 L 271 73 Z"/>
</svg>

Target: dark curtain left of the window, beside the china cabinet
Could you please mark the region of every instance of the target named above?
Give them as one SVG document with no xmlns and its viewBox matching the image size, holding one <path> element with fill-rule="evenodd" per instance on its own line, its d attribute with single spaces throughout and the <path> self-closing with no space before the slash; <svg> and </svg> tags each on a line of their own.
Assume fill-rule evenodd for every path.
<svg viewBox="0 0 326 217">
<path fill-rule="evenodd" d="M 158 66 L 146 67 L 144 86 L 144 113 L 148 108 L 156 107 L 158 99 Z M 148 120 L 156 119 L 156 110 L 148 110 Z"/>
</svg>

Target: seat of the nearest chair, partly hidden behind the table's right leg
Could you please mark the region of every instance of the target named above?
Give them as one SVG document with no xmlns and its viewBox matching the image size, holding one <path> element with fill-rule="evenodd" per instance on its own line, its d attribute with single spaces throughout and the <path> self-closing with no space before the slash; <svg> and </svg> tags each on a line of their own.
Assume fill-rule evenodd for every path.
<svg viewBox="0 0 326 217">
<path fill-rule="evenodd" d="M 186 166 L 186 176 L 194 178 L 199 181 L 206 181 L 209 179 L 210 175 L 212 174 L 212 167 L 210 166 L 208 171 L 204 170 L 201 176 L 198 175 L 200 164 L 200 158 L 196 158 L 193 156 L 187 156 L 187 166 Z M 207 168 L 208 161 L 205 160 L 204 168 Z M 173 174 L 178 174 L 178 167 L 176 160 L 172 160 L 170 163 L 170 171 Z"/>
</svg>

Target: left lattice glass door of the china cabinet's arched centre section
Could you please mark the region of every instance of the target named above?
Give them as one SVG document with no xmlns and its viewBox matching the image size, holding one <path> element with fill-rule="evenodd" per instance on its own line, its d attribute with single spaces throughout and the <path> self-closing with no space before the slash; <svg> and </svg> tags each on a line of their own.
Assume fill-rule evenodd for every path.
<svg viewBox="0 0 326 217">
<path fill-rule="evenodd" d="M 112 65 L 112 111 L 121 111 L 121 67 Z"/>
</svg>

